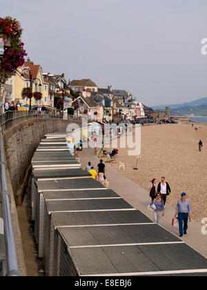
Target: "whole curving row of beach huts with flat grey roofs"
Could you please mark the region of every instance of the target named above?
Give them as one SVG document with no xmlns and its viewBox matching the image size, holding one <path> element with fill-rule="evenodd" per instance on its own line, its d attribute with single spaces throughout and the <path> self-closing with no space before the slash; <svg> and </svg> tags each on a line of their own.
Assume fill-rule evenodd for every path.
<svg viewBox="0 0 207 290">
<path fill-rule="evenodd" d="M 70 153 L 66 136 L 47 134 L 32 157 L 32 220 L 46 276 L 207 269 L 204 257 L 93 180 Z"/>
</svg>

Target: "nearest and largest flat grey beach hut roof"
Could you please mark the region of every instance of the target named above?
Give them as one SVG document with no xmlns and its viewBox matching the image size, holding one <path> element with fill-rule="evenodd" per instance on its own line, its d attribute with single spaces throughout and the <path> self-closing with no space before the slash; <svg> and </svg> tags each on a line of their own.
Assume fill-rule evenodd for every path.
<svg viewBox="0 0 207 290">
<path fill-rule="evenodd" d="M 207 260 L 186 244 L 68 249 L 80 275 L 159 275 L 206 269 Z M 207 276 L 207 273 L 206 273 Z"/>
</svg>

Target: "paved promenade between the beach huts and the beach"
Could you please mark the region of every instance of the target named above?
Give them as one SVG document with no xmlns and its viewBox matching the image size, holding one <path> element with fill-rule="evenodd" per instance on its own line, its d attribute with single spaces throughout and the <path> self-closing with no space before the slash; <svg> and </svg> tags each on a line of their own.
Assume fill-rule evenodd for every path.
<svg viewBox="0 0 207 290">
<path fill-rule="evenodd" d="M 92 166 L 97 170 L 99 159 L 95 156 L 94 149 L 83 149 L 82 152 L 79 152 L 79 157 L 81 157 L 81 165 L 83 169 L 86 168 L 90 161 L 92 162 Z M 135 209 L 138 209 L 152 220 L 152 211 L 148 211 L 147 209 L 147 206 L 150 203 L 149 192 L 139 186 L 136 182 L 132 182 L 126 176 L 122 175 L 121 171 L 116 171 L 108 163 L 105 164 L 106 177 L 110 183 L 109 189 L 112 189 L 117 194 L 121 195 L 121 197 L 134 206 Z M 139 170 L 137 171 L 137 174 L 139 174 Z M 161 220 L 161 226 L 170 231 L 170 233 L 179 236 L 178 226 L 172 227 L 171 225 L 174 215 L 175 209 L 169 204 L 166 204 L 166 213 L 164 218 Z M 185 235 L 181 239 L 184 240 L 188 246 L 192 247 L 207 258 L 207 235 L 201 233 L 201 225 L 198 222 L 191 220 L 191 222 L 189 222 L 188 235 Z"/>
</svg>

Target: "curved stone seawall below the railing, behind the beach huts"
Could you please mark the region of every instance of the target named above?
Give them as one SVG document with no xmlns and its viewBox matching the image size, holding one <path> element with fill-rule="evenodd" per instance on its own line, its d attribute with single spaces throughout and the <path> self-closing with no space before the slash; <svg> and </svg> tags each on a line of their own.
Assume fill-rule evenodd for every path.
<svg viewBox="0 0 207 290">
<path fill-rule="evenodd" d="M 62 119 L 31 119 L 10 128 L 3 134 L 7 166 L 16 202 L 17 190 L 24 180 L 40 140 L 46 133 L 59 131 L 68 124 L 68 120 Z"/>
</svg>

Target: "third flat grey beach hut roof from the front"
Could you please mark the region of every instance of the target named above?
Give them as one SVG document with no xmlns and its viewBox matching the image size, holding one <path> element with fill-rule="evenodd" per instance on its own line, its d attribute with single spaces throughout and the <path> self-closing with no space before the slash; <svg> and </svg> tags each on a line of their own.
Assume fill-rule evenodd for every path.
<svg viewBox="0 0 207 290">
<path fill-rule="evenodd" d="M 105 192 L 105 191 L 104 191 Z M 101 191 L 102 193 L 102 191 Z M 55 226 L 152 223 L 141 211 L 95 211 L 87 213 L 52 213 Z"/>
</svg>

